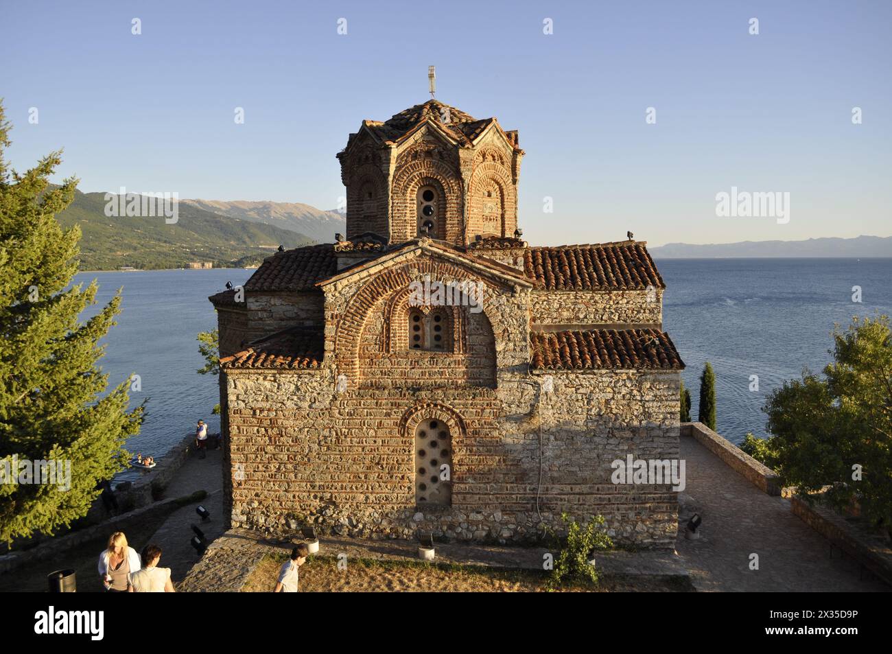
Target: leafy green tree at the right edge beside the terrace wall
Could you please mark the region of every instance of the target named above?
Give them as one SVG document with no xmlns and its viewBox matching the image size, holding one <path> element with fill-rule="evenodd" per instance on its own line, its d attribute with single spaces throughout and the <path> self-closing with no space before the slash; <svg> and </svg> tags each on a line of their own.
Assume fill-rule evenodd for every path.
<svg viewBox="0 0 892 654">
<path fill-rule="evenodd" d="M 887 316 L 855 317 L 833 331 L 833 362 L 805 370 L 768 397 L 773 466 L 800 494 L 827 488 L 841 509 L 853 501 L 892 537 L 892 333 Z"/>
</svg>

